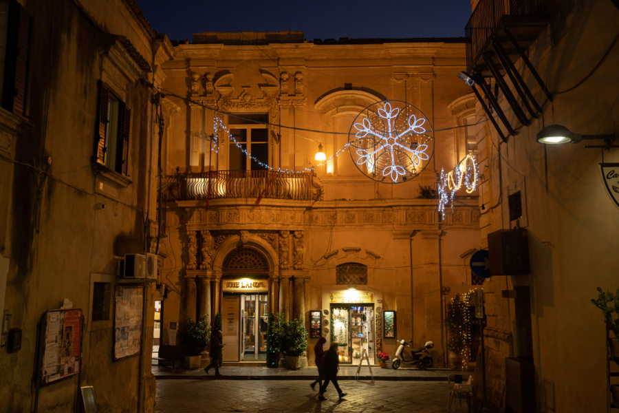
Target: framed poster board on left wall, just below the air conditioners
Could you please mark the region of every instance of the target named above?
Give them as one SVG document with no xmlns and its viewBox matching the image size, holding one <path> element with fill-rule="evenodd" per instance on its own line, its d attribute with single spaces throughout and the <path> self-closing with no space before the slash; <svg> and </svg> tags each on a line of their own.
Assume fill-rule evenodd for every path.
<svg viewBox="0 0 619 413">
<path fill-rule="evenodd" d="M 140 352 L 144 287 L 117 286 L 114 305 L 114 360 L 118 360 Z"/>
</svg>

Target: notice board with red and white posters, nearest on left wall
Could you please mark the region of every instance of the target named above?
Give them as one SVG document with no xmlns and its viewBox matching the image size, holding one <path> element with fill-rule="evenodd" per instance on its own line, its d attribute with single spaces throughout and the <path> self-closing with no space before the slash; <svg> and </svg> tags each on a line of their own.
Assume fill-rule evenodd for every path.
<svg viewBox="0 0 619 413">
<path fill-rule="evenodd" d="M 41 319 L 41 385 L 78 374 L 82 348 L 82 310 L 48 310 Z"/>
</svg>

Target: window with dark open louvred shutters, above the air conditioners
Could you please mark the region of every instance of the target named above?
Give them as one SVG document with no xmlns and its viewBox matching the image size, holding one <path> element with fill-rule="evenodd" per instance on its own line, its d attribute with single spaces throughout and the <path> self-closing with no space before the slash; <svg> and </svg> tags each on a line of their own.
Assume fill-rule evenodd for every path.
<svg viewBox="0 0 619 413">
<path fill-rule="evenodd" d="M 95 130 L 96 162 L 128 176 L 130 131 L 131 109 L 100 82 Z"/>
</svg>

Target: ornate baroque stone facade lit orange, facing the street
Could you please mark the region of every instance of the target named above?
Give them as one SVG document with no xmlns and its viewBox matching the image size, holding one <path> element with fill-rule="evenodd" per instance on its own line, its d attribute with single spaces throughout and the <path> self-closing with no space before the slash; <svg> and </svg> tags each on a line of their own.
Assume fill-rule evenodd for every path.
<svg viewBox="0 0 619 413">
<path fill-rule="evenodd" d="M 421 190 L 466 154 L 467 135 L 451 129 L 475 111 L 456 77 L 464 44 L 360 43 L 206 32 L 174 47 L 163 65 L 163 343 L 186 316 L 221 314 L 224 361 L 263 359 L 265 315 L 283 312 L 305 320 L 310 346 L 340 340 L 343 362 L 393 354 L 396 339 L 432 340 L 445 362 L 444 306 L 470 289 L 479 246 L 477 193 L 439 220 Z M 445 129 L 410 182 L 370 180 L 346 149 L 354 118 L 381 100 Z"/>
</svg>

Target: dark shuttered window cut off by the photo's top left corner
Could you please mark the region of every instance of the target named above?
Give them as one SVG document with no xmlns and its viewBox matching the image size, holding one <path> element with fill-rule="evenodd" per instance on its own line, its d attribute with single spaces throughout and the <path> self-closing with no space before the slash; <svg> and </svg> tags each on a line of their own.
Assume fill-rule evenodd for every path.
<svg viewBox="0 0 619 413">
<path fill-rule="evenodd" d="M 14 0 L 0 2 L 0 15 L 4 40 L 1 105 L 9 112 L 27 118 L 31 19 Z"/>
</svg>

